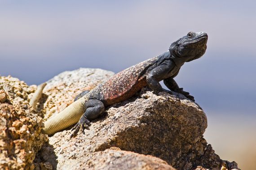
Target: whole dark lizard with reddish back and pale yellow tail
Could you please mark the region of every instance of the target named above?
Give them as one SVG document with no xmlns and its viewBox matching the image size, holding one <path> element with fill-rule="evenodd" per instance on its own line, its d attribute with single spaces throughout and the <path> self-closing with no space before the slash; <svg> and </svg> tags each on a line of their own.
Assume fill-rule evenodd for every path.
<svg viewBox="0 0 256 170">
<path fill-rule="evenodd" d="M 207 48 L 207 39 L 208 35 L 205 32 L 189 32 L 172 43 L 169 50 L 163 54 L 115 74 L 91 91 L 82 92 L 71 105 L 48 119 L 42 132 L 51 135 L 76 123 L 71 128 L 70 138 L 76 136 L 80 129 L 84 133 L 91 125 L 90 121 L 101 115 L 107 106 L 132 97 L 145 86 L 150 87 L 155 93 L 164 94 L 159 83 L 162 80 L 168 89 L 181 93 L 194 102 L 194 97 L 183 91 L 173 78 L 185 62 L 203 56 Z"/>
</svg>

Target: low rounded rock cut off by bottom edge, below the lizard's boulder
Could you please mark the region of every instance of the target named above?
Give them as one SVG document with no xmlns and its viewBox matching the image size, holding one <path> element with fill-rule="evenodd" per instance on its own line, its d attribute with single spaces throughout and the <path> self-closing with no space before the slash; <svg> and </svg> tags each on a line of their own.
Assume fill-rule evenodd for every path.
<svg viewBox="0 0 256 170">
<path fill-rule="evenodd" d="M 80 166 L 86 170 L 175 170 L 166 161 L 157 157 L 111 148 L 95 152 L 86 158 L 84 165 Z M 80 167 L 77 166 L 77 169 Z"/>
</svg>

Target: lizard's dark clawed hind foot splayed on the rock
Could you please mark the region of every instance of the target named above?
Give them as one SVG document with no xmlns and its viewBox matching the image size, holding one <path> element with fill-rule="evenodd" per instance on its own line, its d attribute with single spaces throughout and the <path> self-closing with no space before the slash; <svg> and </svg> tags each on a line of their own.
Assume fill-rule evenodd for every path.
<svg viewBox="0 0 256 170">
<path fill-rule="evenodd" d="M 85 129 L 89 129 L 89 126 L 91 126 L 90 121 L 83 115 L 79 122 L 76 123 L 74 127 L 72 127 L 71 131 L 74 131 L 71 133 L 70 139 L 77 135 L 80 129 L 82 129 L 82 133 L 84 134 Z"/>
</svg>

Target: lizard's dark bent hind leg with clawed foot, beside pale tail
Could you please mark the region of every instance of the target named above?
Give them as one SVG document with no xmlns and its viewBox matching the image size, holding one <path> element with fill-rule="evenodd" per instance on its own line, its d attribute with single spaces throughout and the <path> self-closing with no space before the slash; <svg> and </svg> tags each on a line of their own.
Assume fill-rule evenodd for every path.
<svg viewBox="0 0 256 170">
<path fill-rule="evenodd" d="M 76 123 L 76 125 L 71 129 L 73 132 L 70 138 L 76 136 L 80 129 L 84 133 L 84 130 L 88 129 L 91 125 L 90 120 L 96 119 L 102 112 L 105 111 L 104 104 L 97 99 L 90 99 L 85 102 L 85 108 L 86 111 L 81 116 L 78 123 Z"/>
</svg>

